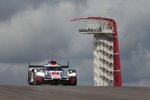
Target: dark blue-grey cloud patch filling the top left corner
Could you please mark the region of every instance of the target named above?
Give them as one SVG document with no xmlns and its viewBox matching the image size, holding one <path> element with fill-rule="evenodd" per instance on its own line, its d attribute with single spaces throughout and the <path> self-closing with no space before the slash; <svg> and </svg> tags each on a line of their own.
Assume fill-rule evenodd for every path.
<svg viewBox="0 0 150 100">
<path fill-rule="evenodd" d="M 64 1 L 64 0 L 62 0 Z M 1 0 L 0 1 L 0 21 L 11 20 L 16 14 L 28 8 L 38 9 L 41 4 L 47 3 L 50 6 L 60 2 L 59 0 Z"/>
</svg>

